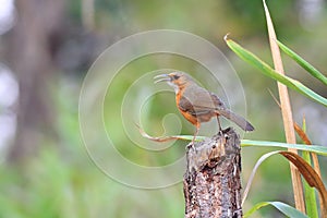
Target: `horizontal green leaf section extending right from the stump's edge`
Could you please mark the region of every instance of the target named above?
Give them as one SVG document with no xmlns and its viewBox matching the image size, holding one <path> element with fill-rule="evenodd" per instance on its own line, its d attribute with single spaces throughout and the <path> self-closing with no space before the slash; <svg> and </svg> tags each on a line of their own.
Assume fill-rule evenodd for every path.
<svg viewBox="0 0 327 218">
<path fill-rule="evenodd" d="M 319 155 L 327 156 L 327 147 L 319 145 L 301 145 L 301 144 L 288 144 L 288 143 L 279 143 L 279 142 L 268 142 L 268 141 L 251 141 L 251 140 L 242 140 L 241 146 L 264 146 L 264 147 L 284 147 L 284 148 L 294 148 L 300 150 L 306 150 L 316 153 Z"/>
</svg>

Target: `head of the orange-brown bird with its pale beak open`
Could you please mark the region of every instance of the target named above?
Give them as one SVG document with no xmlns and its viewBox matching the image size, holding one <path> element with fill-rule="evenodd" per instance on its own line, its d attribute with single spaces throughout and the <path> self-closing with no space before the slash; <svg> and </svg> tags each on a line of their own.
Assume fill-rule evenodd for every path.
<svg viewBox="0 0 327 218">
<path fill-rule="evenodd" d="M 187 83 L 194 83 L 192 77 L 186 73 L 172 72 L 169 74 L 160 74 L 155 76 L 155 83 L 167 82 L 170 86 L 174 88 L 175 92 L 183 88 Z"/>
</svg>

